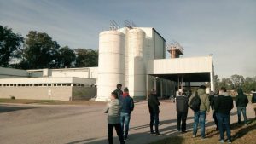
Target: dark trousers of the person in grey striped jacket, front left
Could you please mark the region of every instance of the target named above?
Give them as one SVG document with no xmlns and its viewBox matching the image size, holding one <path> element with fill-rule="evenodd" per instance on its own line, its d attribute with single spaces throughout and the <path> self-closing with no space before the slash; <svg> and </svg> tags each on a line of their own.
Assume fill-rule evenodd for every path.
<svg viewBox="0 0 256 144">
<path fill-rule="evenodd" d="M 125 144 L 121 124 L 108 124 L 108 144 L 113 144 L 113 127 L 119 136 L 120 144 Z"/>
</svg>

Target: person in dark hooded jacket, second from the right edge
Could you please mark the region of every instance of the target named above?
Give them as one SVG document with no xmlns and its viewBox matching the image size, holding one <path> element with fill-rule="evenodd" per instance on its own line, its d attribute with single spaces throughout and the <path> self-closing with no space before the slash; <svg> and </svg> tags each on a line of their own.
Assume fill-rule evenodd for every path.
<svg viewBox="0 0 256 144">
<path fill-rule="evenodd" d="M 236 95 L 236 107 L 237 107 L 238 124 L 241 124 L 241 112 L 244 118 L 244 124 L 247 124 L 248 98 L 247 98 L 247 95 L 243 94 L 241 89 L 238 89 L 237 93 L 238 95 Z"/>
</svg>

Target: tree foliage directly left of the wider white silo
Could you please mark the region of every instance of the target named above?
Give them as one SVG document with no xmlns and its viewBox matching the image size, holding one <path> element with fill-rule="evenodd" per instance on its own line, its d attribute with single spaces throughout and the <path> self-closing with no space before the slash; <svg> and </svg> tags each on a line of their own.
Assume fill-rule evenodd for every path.
<svg viewBox="0 0 256 144">
<path fill-rule="evenodd" d="M 75 49 L 77 67 L 98 66 L 98 51 L 93 49 Z"/>
</svg>

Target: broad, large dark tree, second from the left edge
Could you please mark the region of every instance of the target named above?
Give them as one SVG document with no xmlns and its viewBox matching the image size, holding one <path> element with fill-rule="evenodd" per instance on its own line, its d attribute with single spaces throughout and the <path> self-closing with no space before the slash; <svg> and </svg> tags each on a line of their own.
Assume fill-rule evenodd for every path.
<svg viewBox="0 0 256 144">
<path fill-rule="evenodd" d="M 30 31 L 26 35 L 23 62 L 28 68 L 58 67 L 59 44 L 47 33 Z"/>
</svg>

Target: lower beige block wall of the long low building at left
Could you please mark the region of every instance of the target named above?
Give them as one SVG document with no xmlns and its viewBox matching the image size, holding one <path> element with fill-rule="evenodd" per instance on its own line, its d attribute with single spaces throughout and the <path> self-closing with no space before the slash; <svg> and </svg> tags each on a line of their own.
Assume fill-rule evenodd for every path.
<svg viewBox="0 0 256 144">
<path fill-rule="evenodd" d="M 0 87 L 0 98 L 8 99 L 90 100 L 95 94 L 95 87 Z"/>
</svg>

